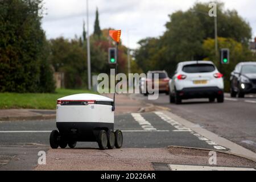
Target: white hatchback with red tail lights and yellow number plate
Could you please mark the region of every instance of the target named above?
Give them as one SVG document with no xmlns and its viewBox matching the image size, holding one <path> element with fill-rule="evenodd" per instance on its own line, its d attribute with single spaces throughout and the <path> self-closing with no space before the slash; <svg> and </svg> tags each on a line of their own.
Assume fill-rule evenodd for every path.
<svg viewBox="0 0 256 182">
<path fill-rule="evenodd" d="M 169 82 L 170 102 L 180 104 L 190 98 L 209 98 L 224 102 L 223 75 L 212 61 L 185 61 L 177 65 Z"/>
</svg>

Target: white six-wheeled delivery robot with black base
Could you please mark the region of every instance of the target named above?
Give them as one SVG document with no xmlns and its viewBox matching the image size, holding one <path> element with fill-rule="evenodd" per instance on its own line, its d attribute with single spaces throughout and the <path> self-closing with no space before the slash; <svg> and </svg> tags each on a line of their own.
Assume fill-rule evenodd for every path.
<svg viewBox="0 0 256 182">
<path fill-rule="evenodd" d="M 76 142 L 97 142 L 101 150 L 121 148 L 121 130 L 114 132 L 114 101 L 96 94 L 76 94 L 57 100 L 56 124 L 49 142 L 52 148 L 74 148 Z"/>
</svg>

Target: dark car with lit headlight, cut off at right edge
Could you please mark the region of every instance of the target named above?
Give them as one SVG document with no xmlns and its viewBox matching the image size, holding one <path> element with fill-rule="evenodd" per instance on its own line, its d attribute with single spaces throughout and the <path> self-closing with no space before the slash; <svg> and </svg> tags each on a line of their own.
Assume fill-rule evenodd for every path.
<svg viewBox="0 0 256 182">
<path fill-rule="evenodd" d="M 230 76 L 231 97 L 243 98 L 245 94 L 256 93 L 256 62 L 237 64 Z"/>
</svg>

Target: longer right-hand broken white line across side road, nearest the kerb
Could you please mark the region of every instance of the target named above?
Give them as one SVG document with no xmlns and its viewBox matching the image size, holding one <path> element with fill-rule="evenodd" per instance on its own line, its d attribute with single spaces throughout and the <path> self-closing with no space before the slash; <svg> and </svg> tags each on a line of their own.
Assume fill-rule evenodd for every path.
<svg viewBox="0 0 256 182">
<path fill-rule="evenodd" d="M 208 138 L 204 137 L 203 135 L 200 135 L 198 133 L 195 133 L 195 131 L 189 129 L 188 127 L 185 127 L 181 123 L 177 122 L 175 119 L 168 117 L 168 115 L 163 114 L 162 112 L 156 111 L 156 115 L 158 115 L 161 119 L 166 121 L 167 123 L 170 123 L 172 126 L 174 126 L 177 130 L 173 130 L 175 132 L 189 132 L 192 135 L 195 135 L 199 140 L 206 142 L 210 146 L 213 146 L 216 150 L 226 150 L 225 147 L 222 147 L 218 145 L 216 142 L 213 142 L 212 140 L 209 140 Z"/>
</svg>

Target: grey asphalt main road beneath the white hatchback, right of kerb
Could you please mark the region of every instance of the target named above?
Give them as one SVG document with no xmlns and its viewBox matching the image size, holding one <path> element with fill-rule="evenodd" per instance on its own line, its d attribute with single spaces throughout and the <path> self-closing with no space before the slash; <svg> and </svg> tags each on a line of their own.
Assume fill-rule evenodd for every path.
<svg viewBox="0 0 256 182">
<path fill-rule="evenodd" d="M 148 101 L 147 97 L 134 95 L 144 102 L 169 107 L 171 112 L 201 127 L 256 152 L 256 96 L 230 98 L 225 102 L 209 103 L 206 99 L 184 100 L 183 104 L 169 103 L 169 96 L 160 94 L 158 100 Z"/>
</svg>

